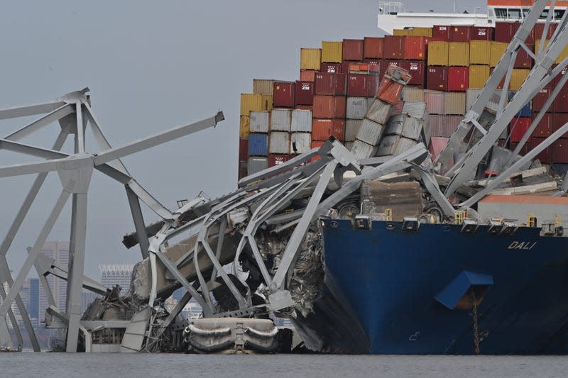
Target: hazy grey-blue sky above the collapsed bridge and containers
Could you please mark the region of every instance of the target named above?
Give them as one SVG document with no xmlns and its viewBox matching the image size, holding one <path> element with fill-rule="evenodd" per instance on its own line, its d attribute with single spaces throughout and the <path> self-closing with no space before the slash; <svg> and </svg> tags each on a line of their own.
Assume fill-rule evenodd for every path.
<svg viewBox="0 0 568 378">
<path fill-rule="evenodd" d="M 407 11 L 449 11 L 454 1 L 405 1 Z M 485 11 L 485 1 L 458 1 Z M 378 1 L 9 1 L 0 13 L 0 109 L 50 101 L 89 87 L 111 145 L 225 113 L 217 128 L 124 159 L 166 206 L 203 190 L 236 188 L 239 94 L 252 79 L 297 79 L 300 48 L 321 40 L 381 35 Z M 6 135 L 26 121 L 2 121 Z M 59 126 L 22 140 L 50 148 Z M 98 152 L 87 132 L 90 152 Z M 71 152 L 72 145 L 65 145 Z M 0 165 L 33 159 L 0 151 Z M 35 176 L 0 179 L 0 238 Z M 50 174 L 9 252 L 18 271 L 60 193 Z M 89 191 L 85 272 L 137 262 L 122 236 L 133 230 L 124 187 L 94 173 Z M 146 222 L 157 216 L 143 209 Z M 69 239 L 70 206 L 48 240 Z M 35 274 L 35 272 L 33 273 Z"/>
</svg>

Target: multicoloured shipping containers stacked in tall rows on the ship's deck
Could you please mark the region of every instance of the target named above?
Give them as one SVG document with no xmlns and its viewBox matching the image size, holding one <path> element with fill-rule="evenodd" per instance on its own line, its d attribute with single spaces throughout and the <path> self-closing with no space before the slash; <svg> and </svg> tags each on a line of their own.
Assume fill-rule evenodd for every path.
<svg viewBox="0 0 568 378">
<path fill-rule="evenodd" d="M 386 37 L 322 41 L 321 48 L 300 49 L 299 80 L 254 80 L 253 94 L 241 95 L 239 177 L 320 147 L 331 135 L 351 149 L 363 125 L 371 121 L 377 123 L 368 118 L 373 106 L 377 108 L 373 111 L 380 111 L 383 118 L 386 117 L 379 123 L 383 129 L 391 128 L 388 131 L 391 136 L 406 138 L 402 131 L 398 133 L 400 127 L 395 125 L 396 120 L 401 121 L 398 118 L 404 117 L 392 116 L 406 114 L 408 118 L 404 109 L 421 109 L 420 104 L 425 104 L 424 115 L 412 117 L 423 119 L 430 114 L 420 140 L 430 145 L 431 150 L 435 143 L 433 150 L 437 152 L 474 104 L 519 26 L 520 23 L 498 22 L 495 28 L 407 28 L 394 30 L 393 35 Z M 543 24 L 537 23 L 525 42 L 528 48 L 533 51 L 540 48 L 543 29 Z M 546 41 L 552 38 L 554 31 L 553 24 L 547 30 Z M 556 63 L 567 56 L 568 48 Z M 509 99 L 525 81 L 532 64 L 530 55 L 521 49 L 510 80 Z M 373 99 L 380 79 L 391 66 L 407 70 L 412 79 L 404 87 L 402 99 L 388 106 L 378 106 L 380 104 Z M 501 145 L 515 148 L 556 83 L 542 89 L 532 104 L 529 102 L 513 118 L 509 138 L 504 133 Z M 498 89 L 502 87 L 503 83 Z M 567 99 L 568 86 L 562 89 L 521 153 L 541 143 L 568 121 Z M 388 113 L 383 114 L 387 108 Z M 393 126 L 388 126 L 389 117 Z M 567 165 L 568 135 L 565 136 L 567 138 L 561 138 L 543 151 L 539 159 Z M 360 143 L 364 141 L 359 139 Z M 380 146 L 374 147 L 373 153 L 378 153 Z M 361 148 L 353 152 L 357 150 Z"/>
</svg>

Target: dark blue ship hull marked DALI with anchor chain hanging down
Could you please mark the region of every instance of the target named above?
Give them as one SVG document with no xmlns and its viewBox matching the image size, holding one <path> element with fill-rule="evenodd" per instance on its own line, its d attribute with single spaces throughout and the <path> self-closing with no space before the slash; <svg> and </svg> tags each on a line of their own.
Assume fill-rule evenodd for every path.
<svg viewBox="0 0 568 378">
<path fill-rule="evenodd" d="M 295 322 L 312 348 L 473 354 L 473 311 L 460 306 L 471 289 L 481 299 L 481 353 L 568 352 L 568 238 L 527 227 L 493 235 L 488 226 L 470 234 L 386 221 L 322 226 L 326 282 L 315 312 Z"/>
</svg>

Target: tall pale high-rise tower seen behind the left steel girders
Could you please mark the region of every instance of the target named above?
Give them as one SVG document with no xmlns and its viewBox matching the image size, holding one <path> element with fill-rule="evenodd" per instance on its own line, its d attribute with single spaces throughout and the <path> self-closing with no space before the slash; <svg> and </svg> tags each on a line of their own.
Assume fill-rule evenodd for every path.
<svg viewBox="0 0 568 378">
<path fill-rule="evenodd" d="M 47 257 L 52 258 L 61 265 L 67 267 L 69 264 L 69 242 L 68 241 L 48 241 L 41 248 L 41 252 Z M 62 311 L 65 311 L 65 299 L 67 298 L 67 281 L 49 274 L 48 284 L 53 294 L 55 304 Z M 45 308 L 48 308 L 48 296 L 43 285 L 40 285 L 39 321 L 45 319 Z"/>
</svg>

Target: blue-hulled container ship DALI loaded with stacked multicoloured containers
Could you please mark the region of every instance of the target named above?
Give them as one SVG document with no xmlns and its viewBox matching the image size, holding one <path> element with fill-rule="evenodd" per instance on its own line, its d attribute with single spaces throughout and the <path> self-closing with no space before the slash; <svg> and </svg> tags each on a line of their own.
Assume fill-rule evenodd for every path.
<svg viewBox="0 0 568 378">
<path fill-rule="evenodd" d="M 499 118 L 500 102 L 507 106 L 523 96 L 516 95 L 523 86 L 526 90 L 533 66 L 541 64 L 539 52 L 557 38 L 557 27 L 564 28 L 558 23 L 564 3 L 557 2 L 554 11 L 550 4 L 545 7 L 523 48 L 513 55 L 510 74 L 477 109 Z M 321 47 L 300 49 L 297 80 L 254 79 L 253 93 L 241 94 L 239 179 L 249 182 L 247 175 L 274 169 L 329 138 L 359 159 L 371 160 L 400 154 L 405 141 L 406 148 L 423 143 L 434 162 L 445 154 L 442 160 L 449 169 L 439 173 L 451 177 L 468 153 L 449 148 L 452 135 L 486 95 L 493 70 L 510 53 L 510 43 L 534 4 L 490 0 L 487 15 L 404 13 L 380 4 L 378 27 L 387 35 L 322 41 Z M 565 66 L 567 57 L 564 48 L 549 70 Z M 361 137 L 362 130 L 368 127 L 381 79 L 393 68 L 411 77 L 392 102 L 386 131 L 373 145 Z M 503 152 L 509 154 L 505 160 L 518 159 L 568 122 L 565 72 L 519 106 L 496 138 L 492 155 L 470 175 L 470 184 L 491 182 L 508 167 L 498 163 L 501 152 L 508 151 Z M 411 114 L 416 106 L 423 106 L 418 111 L 422 133 L 410 138 L 387 135 L 393 120 L 416 116 Z M 476 133 L 467 134 L 471 145 L 487 131 Z M 388 144 L 391 135 L 395 142 Z M 325 284 L 312 311 L 293 318 L 305 343 L 342 353 L 467 354 L 479 352 L 480 345 L 490 354 L 568 352 L 568 239 L 562 221 L 568 216 L 568 199 L 557 192 L 568 170 L 567 137 L 546 143 L 532 165 L 523 167 L 546 174 L 527 176 L 519 184 L 522 188 L 510 184 L 481 196 L 471 212 L 484 223 L 472 222 L 467 211 L 442 221 L 442 211 L 428 210 L 420 185 L 405 182 L 408 177 L 379 180 L 375 189 L 363 185 L 360 198 L 346 208 L 355 218 L 321 219 Z M 361 155 L 362 150 L 372 152 Z M 518 156 L 510 157 L 510 151 Z M 449 179 L 437 184 L 451 188 Z M 466 193 L 462 185 L 461 193 L 454 189 L 445 194 L 458 204 L 465 198 L 459 196 L 478 189 Z M 373 190 L 370 213 L 381 216 L 359 222 L 354 213 L 366 213 L 364 199 Z"/>
</svg>

